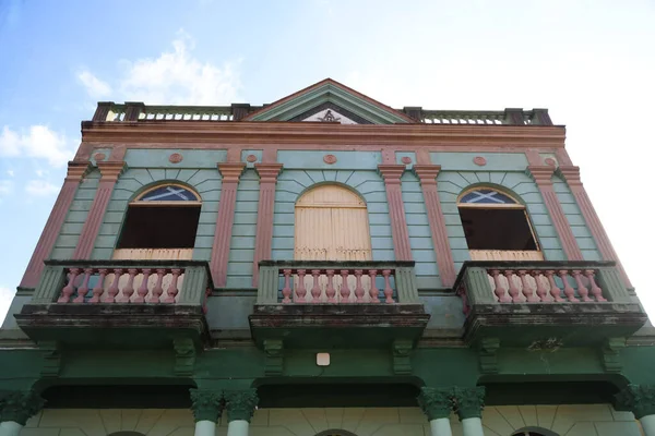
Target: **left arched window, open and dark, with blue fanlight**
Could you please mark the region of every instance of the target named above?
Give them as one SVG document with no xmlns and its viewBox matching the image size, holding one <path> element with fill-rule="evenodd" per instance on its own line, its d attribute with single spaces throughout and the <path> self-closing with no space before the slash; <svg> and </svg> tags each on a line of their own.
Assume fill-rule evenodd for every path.
<svg viewBox="0 0 655 436">
<path fill-rule="evenodd" d="M 200 206 L 200 196 L 179 184 L 141 193 L 128 207 L 114 258 L 190 259 Z"/>
</svg>

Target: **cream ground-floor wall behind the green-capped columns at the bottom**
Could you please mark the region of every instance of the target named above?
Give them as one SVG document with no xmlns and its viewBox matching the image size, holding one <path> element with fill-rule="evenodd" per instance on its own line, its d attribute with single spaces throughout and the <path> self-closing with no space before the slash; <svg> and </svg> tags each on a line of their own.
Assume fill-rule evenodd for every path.
<svg viewBox="0 0 655 436">
<path fill-rule="evenodd" d="M 227 434 L 223 416 L 216 436 Z M 182 409 L 46 409 L 27 422 L 21 436 L 105 436 L 119 431 L 147 436 L 192 436 L 193 416 Z M 451 416 L 453 436 L 462 426 Z M 639 436 L 632 413 L 609 404 L 487 407 L 486 436 L 510 436 L 526 426 L 550 429 L 560 436 Z M 251 422 L 251 436 L 313 436 L 326 429 L 345 429 L 357 436 L 429 436 L 428 422 L 418 408 L 260 409 Z"/>
</svg>

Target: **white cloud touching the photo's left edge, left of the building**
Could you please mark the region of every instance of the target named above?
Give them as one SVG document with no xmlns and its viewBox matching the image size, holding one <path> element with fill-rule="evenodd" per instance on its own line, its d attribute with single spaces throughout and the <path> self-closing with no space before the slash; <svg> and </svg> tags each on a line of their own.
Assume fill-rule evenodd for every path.
<svg viewBox="0 0 655 436">
<path fill-rule="evenodd" d="M 50 165 L 61 167 L 74 153 L 74 146 L 64 135 L 46 125 L 32 125 L 21 132 L 5 125 L 0 134 L 0 156 L 47 159 Z"/>
</svg>

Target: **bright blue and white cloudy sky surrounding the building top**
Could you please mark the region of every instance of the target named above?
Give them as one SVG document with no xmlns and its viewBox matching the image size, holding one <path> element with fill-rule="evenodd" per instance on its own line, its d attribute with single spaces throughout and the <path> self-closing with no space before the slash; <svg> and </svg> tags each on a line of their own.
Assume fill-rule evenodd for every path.
<svg viewBox="0 0 655 436">
<path fill-rule="evenodd" d="M 465 4 L 458 4 L 465 3 Z M 646 310 L 655 2 L 0 0 L 0 315 L 97 100 L 546 107 Z"/>
</svg>

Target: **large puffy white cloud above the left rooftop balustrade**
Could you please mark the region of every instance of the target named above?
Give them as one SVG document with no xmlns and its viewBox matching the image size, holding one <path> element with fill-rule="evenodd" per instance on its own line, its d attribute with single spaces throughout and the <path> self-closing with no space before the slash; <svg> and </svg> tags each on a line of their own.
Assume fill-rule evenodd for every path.
<svg viewBox="0 0 655 436">
<path fill-rule="evenodd" d="M 172 50 L 158 58 L 122 60 L 123 75 L 112 84 L 104 83 L 88 73 L 88 81 L 118 89 L 117 97 L 126 101 L 144 101 L 146 105 L 227 105 L 238 100 L 240 80 L 239 61 L 222 66 L 202 62 L 193 56 L 194 40 L 183 31 L 172 41 Z M 93 77 L 93 80 L 91 78 Z M 80 80 L 82 80 L 80 77 Z M 95 81 L 94 81 L 95 80 Z M 87 86 L 90 96 L 94 97 Z M 94 90 L 97 90 L 93 87 Z"/>
</svg>

